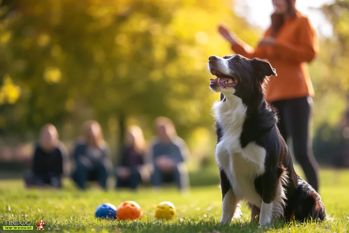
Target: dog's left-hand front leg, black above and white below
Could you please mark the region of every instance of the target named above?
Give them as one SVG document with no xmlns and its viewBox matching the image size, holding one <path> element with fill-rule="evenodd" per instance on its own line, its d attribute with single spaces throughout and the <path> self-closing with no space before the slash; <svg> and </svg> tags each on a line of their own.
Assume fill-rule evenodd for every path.
<svg viewBox="0 0 349 233">
<path fill-rule="evenodd" d="M 222 217 L 220 224 L 230 224 L 232 218 L 240 219 L 241 211 L 238 199 L 231 188 L 231 184 L 223 168 L 220 168 L 220 179 L 222 189 Z"/>
</svg>

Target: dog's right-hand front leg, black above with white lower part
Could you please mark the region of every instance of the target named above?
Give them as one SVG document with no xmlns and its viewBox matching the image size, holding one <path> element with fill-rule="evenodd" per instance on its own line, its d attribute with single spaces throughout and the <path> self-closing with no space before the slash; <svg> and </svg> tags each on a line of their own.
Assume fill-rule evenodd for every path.
<svg viewBox="0 0 349 233">
<path fill-rule="evenodd" d="M 279 168 L 268 169 L 262 177 L 262 205 L 259 215 L 259 227 L 271 224 L 273 220 L 273 201 L 280 177 Z"/>
</svg>

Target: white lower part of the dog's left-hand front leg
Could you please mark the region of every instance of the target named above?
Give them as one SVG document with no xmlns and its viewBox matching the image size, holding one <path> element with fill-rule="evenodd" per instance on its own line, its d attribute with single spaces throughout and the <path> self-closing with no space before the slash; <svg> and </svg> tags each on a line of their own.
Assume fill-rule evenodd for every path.
<svg viewBox="0 0 349 233">
<path fill-rule="evenodd" d="M 222 204 L 222 217 L 220 223 L 230 223 L 232 219 L 241 219 L 239 200 L 235 198 L 231 189 L 225 194 Z"/>
</svg>

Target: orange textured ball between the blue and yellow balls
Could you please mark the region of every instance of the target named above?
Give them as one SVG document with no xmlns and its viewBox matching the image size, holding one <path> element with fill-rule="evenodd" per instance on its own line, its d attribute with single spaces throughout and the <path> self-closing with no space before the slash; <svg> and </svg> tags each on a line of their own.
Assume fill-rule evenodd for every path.
<svg viewBox="0 0 349 233">
<path fill-rule="evenodd" d="M 120 220 L 136 220 L 142 218 L 142 215 L 141 207 L 133 201 L 122 202 L 117 207 L 116 217 Z"/>
</svg>

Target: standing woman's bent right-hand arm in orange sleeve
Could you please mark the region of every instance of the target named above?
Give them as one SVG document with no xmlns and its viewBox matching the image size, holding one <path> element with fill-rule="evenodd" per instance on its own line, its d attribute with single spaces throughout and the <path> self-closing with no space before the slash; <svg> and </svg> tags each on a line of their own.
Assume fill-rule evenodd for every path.
<svg viewBox="0 0 349 233">
<path fill-rule="evenodd" d="M 298 33 L 300 44 L 297 45 L 276 38 L 273 54 L 298 63 L 311 62 L 318 52 L 318 39 L 308 18 L 300 20 Z"/>
</svg>

